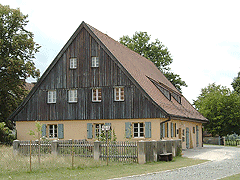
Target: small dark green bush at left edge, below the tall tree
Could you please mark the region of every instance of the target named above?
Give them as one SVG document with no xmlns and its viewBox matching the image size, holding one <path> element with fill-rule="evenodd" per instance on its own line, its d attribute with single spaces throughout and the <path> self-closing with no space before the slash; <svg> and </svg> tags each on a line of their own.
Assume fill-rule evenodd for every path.
<svg viewBox="0 0 240 180">
<path fill-rule="evenodd" d="M 5 122 L 0 122 L 0 144 L 12 145 L 14 139 L 12 130 L 6 127 Z"/>
</svg>

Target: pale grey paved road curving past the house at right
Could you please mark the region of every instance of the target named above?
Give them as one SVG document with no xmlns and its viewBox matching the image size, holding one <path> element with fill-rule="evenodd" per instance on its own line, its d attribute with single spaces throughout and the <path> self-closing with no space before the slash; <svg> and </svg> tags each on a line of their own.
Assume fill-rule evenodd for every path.
<svg viewBox="0 0 240 180">
<path fill-rule="evenodd" d="M 211 161 L 176 170 L 121 179 L 212 180 L 240 173 L 240 148 L 205 145 L 203 148 L 185 150 L 183 154 L 185 157 Z"/>
</svg>

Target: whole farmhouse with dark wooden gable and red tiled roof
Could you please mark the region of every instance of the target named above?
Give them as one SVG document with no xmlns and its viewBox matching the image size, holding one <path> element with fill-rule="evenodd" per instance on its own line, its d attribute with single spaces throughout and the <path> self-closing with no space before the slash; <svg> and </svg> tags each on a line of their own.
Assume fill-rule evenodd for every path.
<svg viewBox="0 0 240 180">
<path fill-rule="evenodd" d="M 40 121 L 52 139 L 94 141 L 110 125 L 117 141 L 182 139 L 202 146 L 208 122 L 148 59 L 82 22 L 9 117 L 17 139 Z"/>
</svg>

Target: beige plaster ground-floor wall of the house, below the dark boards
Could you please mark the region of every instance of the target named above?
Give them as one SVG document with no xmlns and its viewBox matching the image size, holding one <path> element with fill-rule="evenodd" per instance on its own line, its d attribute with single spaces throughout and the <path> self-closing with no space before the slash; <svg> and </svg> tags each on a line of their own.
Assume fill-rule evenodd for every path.
<svg viewBox="0 0 240 180">
<path fill-rule="evenodd" d="M 114 120 L 65 120 L 65 121 L 41 121 L 41 124 L 64 124 L 64 139 L 87 139 L 87 123 L 111 123 L 112 129 L 115 131 L 117 136 L 117 141 L 136 141 L 136 140 L 160 140 L 160 123 L 166 121 L 167 119 L 114 119 Z M 125 138 L 125 122 L 151 122 L 151 138 Z M 181 128 L 182 130 L 185 129 L 185 136 L 186 136 L 186 127 L 190 130 L 190 148 L 196 147 L 196 132 L 193 133 L 193 127 L 196 125 L 199 126 L 199 146 L 202 145 L 202 124 L 196 122 L 188 122 L 188 121 L 180 121 L 180 120 L 171 120 L 168 121 L 169 123 L 169 138 L 164 139 L 179 139 L 179 134 L 176 134 L 176 137 L 171 138 L 171 126 L 170 123 L 176 123 L 177 129 Z M 17 128 L 17 139 L 18 140 L 34 140 L 33 136 L 30 136 L 28 133 L 30 130 L 35 129 L 35 122 L 34 121 L 17 121 L 16 122 Z M 94 128 L 93 128 L 94 131 Z M 183 131 L 181 131 L 182 133 Z M 182 136 L 182 137 L 185 137 Z M 186 139 L 186 137 L 185 137 Z M 96 140 L 93 136 L 93 139 L 88 140 Z M 186 148 L 186 140 L 182 142 L 183 149 Z"/>
</svg>

